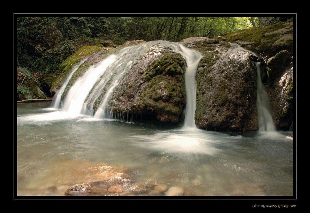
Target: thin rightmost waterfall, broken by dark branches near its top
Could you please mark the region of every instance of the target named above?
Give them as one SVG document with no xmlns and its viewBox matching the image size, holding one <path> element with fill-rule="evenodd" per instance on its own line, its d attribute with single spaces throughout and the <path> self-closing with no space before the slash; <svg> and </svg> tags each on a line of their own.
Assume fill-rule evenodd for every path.
<svg viewBox="0 0 310 213">
<path fill-rule="evenodd" d="M 233 48 L 250 52 L 252 55 L 259 57 L 254 52 L 246 50 L 240 47 L 236 43 L 230 43 Z M 268 94 L 265 91 L 264 85 L 261 79 L 261 67 L 260 62 L 256 62 L 256 71 L 257 71 L 257 112 L 258 112 L 258 123 L 259 123 L 259 131 L 268 131 L 273 132 L 276 131 L 276 127 L 274 126 L 272 116 L 270 114 L 270 104 L 268 99 Z"/>
</svg>

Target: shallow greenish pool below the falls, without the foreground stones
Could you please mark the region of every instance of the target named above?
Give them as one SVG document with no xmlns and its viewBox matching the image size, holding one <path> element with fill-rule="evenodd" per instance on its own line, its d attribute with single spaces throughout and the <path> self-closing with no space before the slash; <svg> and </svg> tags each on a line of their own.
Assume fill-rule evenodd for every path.
<svg viewBox="0 0 310 213">
<path fill-rule="evenodd" d="M 81 162 L 127 166 L 135 183 L 183 186 L 195 195 L 293 195 L 292 132 L 133 124 L 49 107 L 17 105 L 18 195 L 64 195 L 85 181 L 78 169 L 71 174 Z"/>
</svg>

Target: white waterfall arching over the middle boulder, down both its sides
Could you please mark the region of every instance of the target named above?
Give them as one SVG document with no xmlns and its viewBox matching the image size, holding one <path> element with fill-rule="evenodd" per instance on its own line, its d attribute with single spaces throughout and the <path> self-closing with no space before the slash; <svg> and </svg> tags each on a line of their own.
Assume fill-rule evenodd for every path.
<svg viewBox="0 0 310 213">
<path fill-rule="evenodd" d="M 188 49 L 179 43 L 168 41 L 152 41 L 132 47 L 125 47 L 97 64 L 91 65 L 70 87 L 61 108 L 71 114 L 86 114 L 94 118 L 114 118 L 112 110 L 108 110 L 111 96 L 118 83 L 131 69 L 132 65 L 145 54 L 158 54 L 159 50 L 180 53 L 186 63 L 186 115 L 185 127 L 195 127 L 194 115 L 196 109 L 196 70 L 201 59 L 198 51 Z M 154 51 L 155 50 L 155 51 Z M 75 66 L 60 91 L 55 95 L 54 106 L 60 105 L 60 97 L 73 73 L 84 61 Z M 95 110 L 94 110 L 95 109 Z"/>
</svg>

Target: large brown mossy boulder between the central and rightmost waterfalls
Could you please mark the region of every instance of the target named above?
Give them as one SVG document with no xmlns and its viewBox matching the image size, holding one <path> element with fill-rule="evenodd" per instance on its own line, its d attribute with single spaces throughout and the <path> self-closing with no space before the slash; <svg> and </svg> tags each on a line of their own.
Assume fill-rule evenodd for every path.
<svg viewBox="0 0 310 213">
<path fill-rule="evenodd" d="M 257 79 L 251 54 L 213 39 L 186 45 L 203 54 L 197 69 L 195 122 L 198 128 L 257 130 Z"/>
</svg>

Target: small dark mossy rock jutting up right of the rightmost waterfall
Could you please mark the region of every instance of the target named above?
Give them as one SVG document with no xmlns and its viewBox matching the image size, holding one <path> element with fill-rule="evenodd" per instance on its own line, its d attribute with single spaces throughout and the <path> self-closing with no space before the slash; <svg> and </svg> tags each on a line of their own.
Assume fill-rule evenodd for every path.
<svg viewBox="0 0 310 213">
<path fill-rule="evenodd" d="M 267 74 L 268 74 L 268 83 L 270 85 L 273 82 L 281 77 L 287 66 L 291 63 L 290 53 L 286 50 L 282 50 L 281 52 L 277 53 L 277 55 L 271 57 L 267 61 Z"/>
</svg>

